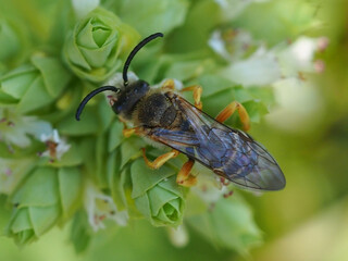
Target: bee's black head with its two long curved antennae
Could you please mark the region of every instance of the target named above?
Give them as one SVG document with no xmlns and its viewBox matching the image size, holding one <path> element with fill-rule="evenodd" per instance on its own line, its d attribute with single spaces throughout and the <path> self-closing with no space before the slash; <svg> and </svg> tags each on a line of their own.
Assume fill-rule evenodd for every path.
<svg viewBox="0 0 348 261">
<path fill-rule="evenodd" d="M 87 102 L 95 97 L 97 94 L 105 91 L 105 90 L 111 90 L 114 91 L 115 95 L 111 98 L 111 105 L 113 111 L 116 114 L 123 113 L 123 114 L 129 114 L 136 102 L 141 99 L 150 89 L 150 86 L 147 82 L 142 79 L 138 79 L 136 82 L 129 83 L 128 82 L 128 67 L 130 65 L 132 59 L 135 57 L 135 54 L 149 41 L 153 40 L 157 37 L 163 37 L 163 34 L 157 33 L 153 35 L 148 36 L 145 38 L 142 41 L 140 41 L 129 53 L 124 67 L 123 67 L 123 88 L 116 88 L 114 86 L 102 86 L 98 89 L 92 90 L 89 92 L 83 101 L 79 103 L 75 117 L 77 121 L 79 121 L 79 115 L 83 112 L 85 105 Z"/>
</svg>

